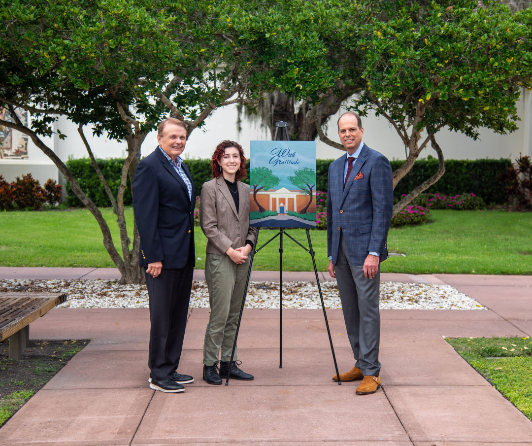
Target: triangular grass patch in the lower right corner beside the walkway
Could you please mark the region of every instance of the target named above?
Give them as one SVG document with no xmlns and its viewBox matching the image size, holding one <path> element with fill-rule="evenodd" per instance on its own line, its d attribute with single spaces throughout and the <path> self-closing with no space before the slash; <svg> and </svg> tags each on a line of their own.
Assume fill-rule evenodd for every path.
<svg viewBox="0 0 532 446">
<path fill-rule="evenodd" d="M 450 338 L 447 342 L 532 420 L 532 341 L 528 336 Z"/>
</svg>

